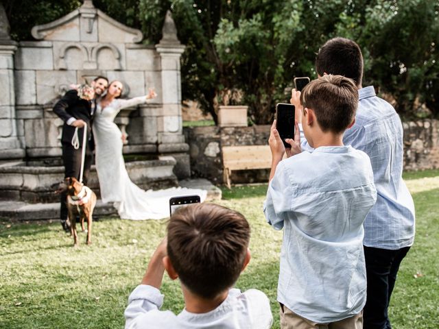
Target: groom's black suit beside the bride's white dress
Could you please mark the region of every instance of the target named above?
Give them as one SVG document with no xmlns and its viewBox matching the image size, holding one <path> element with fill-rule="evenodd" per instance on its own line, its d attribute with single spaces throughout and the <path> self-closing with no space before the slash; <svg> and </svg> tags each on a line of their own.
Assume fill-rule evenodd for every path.
<svg viewBox="0 0 439 329">
<path fill-rule="evenodd" d="M 86 156 L 84 159 L 83 182 L 87 183 L 88 173 L 90 172 L 91 162 L 93 161 L 93 149 L 95 149 L 91 123 L 93 120 L 92 112 L 93 101 L 86 101 L 78 97 L 77 90 L 69 90 L 54 106 L 54 112 L 64 121 L 62 126 L 62 162 L 64 162 L 64 178 L 75 177 L 79 180 L 82 160 L 82 141 L 84 128 L 78 129 L 79 145 L 75 149 L 72 145 L 72 139 L 75 134 L 75 127 L 68 125 L 67 121 L 71 118 L 82 119 L 87 124 L 87 145 Z M 67 192 L 61 194 L 61 212 L 60 219 L 67 219 Z M 63 225 L 64 226 L 64 225 Z"/>
</svg>

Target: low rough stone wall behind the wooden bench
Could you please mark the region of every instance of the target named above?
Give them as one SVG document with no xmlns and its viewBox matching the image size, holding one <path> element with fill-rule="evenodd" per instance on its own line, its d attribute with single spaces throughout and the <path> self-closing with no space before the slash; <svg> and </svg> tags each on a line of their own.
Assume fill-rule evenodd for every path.
<svg viewBox="0 0 439 329">
<path fill-rule="evenodd" d="M 439 121 L 403 123 L 404 170 L 439 168 Z M 221 147 L 231 145 L 266 145 L 270 125 L 252 127 L 186 127 L 186 141 L 191 156 L 191 171 L 196 177 L 223 184 Z M 268 169 L 233 171 L 232 182 L 268 182 Z"/>
</svg>

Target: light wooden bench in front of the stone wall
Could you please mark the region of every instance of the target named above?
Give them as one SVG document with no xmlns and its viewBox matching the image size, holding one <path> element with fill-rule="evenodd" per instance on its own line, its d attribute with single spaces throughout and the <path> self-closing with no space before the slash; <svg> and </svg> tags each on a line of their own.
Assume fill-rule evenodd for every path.
<svg viewBox="0 0 439 329">
<path fill-rule="evenodd" d="M 224 182 L 230 188 L 230 173 L 233 170 L 270 169 L 272 152 L 268 145 L 223 146 L 222 163 Z"/>
</svg>

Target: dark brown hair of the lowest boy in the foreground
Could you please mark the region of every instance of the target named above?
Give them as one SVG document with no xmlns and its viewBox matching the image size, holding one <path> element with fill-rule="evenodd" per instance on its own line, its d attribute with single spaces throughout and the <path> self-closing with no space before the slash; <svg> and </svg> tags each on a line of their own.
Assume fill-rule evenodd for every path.
<svg viewBox="0 0 439 329">
<path fill-rule="evenodd" d="M 216 204 L 179 208 L 167 226 L 167 254 L 180 281 L 207 299 L 235 284 L 249 240 L 246 218 Z"/>
</svg>

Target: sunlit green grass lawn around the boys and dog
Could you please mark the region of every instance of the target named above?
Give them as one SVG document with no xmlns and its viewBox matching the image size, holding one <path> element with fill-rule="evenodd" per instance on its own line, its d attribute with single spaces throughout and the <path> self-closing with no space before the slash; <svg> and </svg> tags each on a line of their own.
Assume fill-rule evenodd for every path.
<svg viewBox="0 0 439 329">
<path fill-rule="evenodd" d="M 408 177 L 407 177 L 408 175 Z M 439 328 L 439 171 L 407 174 L 416 204 L 416 241 L 396 282 L 390 317 L 395 329 Z M 282 233 L 262 213 L 266 186 L 224 189 L 224 206 L 250 221 L 252 261 L 237 282 L 272 301 L 278 328 L 276 285 Z M 123 328 L 128 295 L 165 234 L 166 221 L 101 219 L 93 245 L 80 247 L 59 223 L 0 225 L 0 328 Z M 183 307 L 178 282 L 165 278 L 164 308 Z"/>
</svg>

